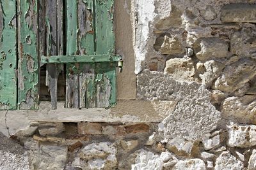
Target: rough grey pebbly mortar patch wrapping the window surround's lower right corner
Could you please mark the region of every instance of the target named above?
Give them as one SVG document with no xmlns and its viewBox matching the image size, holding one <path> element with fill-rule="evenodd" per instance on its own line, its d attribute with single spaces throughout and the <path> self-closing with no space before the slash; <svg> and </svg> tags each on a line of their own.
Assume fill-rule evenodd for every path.
<svg viewBox="0 0 256 170">
<path fill-rule="evenodd" d="M 140 99 L 179 101 L 161 124 L 159 132 L 166 143 L 176 136 L 201 141 L 216 129 L 220 112 L 210 102 L 211 93 L 199 83 L 180 82 L 168 74 L 147 70 L 139 74 L 137 83 Z"/>
</svg>

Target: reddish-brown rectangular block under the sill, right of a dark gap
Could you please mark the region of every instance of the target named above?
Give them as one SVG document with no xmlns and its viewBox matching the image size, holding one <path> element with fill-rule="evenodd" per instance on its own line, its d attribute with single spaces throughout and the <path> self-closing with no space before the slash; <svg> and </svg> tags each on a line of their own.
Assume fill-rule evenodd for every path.
<svg viewBox="0 0 256 170">
<path fill-rule="evenodd" d="M 102 125 L 99 123 L 79 122 L 77 124 L 78 134 L 102 134 Z"/>
</svg>

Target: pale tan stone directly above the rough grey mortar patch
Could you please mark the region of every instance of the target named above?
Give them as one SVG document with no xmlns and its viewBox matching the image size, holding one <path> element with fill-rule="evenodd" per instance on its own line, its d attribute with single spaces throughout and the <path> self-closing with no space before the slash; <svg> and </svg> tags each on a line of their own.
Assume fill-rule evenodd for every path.
<svg viewBox="0 0 256 170">
<path fill-rule="evenodd" d="M 173 79 L 180 81 L 193 81 L 195 68 L 190 58 L 175 58 L 166 62 L 164 73 L 170 74 Z"/>
</svg>

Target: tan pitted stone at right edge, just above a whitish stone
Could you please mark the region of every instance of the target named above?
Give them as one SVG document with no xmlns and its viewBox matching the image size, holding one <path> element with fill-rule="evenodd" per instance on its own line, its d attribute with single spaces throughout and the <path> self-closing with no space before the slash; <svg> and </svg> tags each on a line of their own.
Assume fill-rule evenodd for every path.
<svg viewBox="0 0 256 170">
<path fill-rule="evenodd" d="M 228 97 L 221 104 L 224 118 L 234 117 L 239 123 L 256 123 L 256 96 Z"/>
</svg>

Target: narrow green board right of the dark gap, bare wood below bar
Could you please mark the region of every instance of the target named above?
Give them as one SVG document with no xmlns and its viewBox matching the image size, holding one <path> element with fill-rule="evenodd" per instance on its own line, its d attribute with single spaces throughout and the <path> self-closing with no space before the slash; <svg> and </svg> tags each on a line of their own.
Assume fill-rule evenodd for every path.
<svg viewBox="0 0 256 170">
<path fill-rule="evenodd" d="M 66 0 L 67 55 L 77 52 L 77 1 Z M 79 64 L 67 64 L 66 108 L 79 108 Z"/>
</svg>

